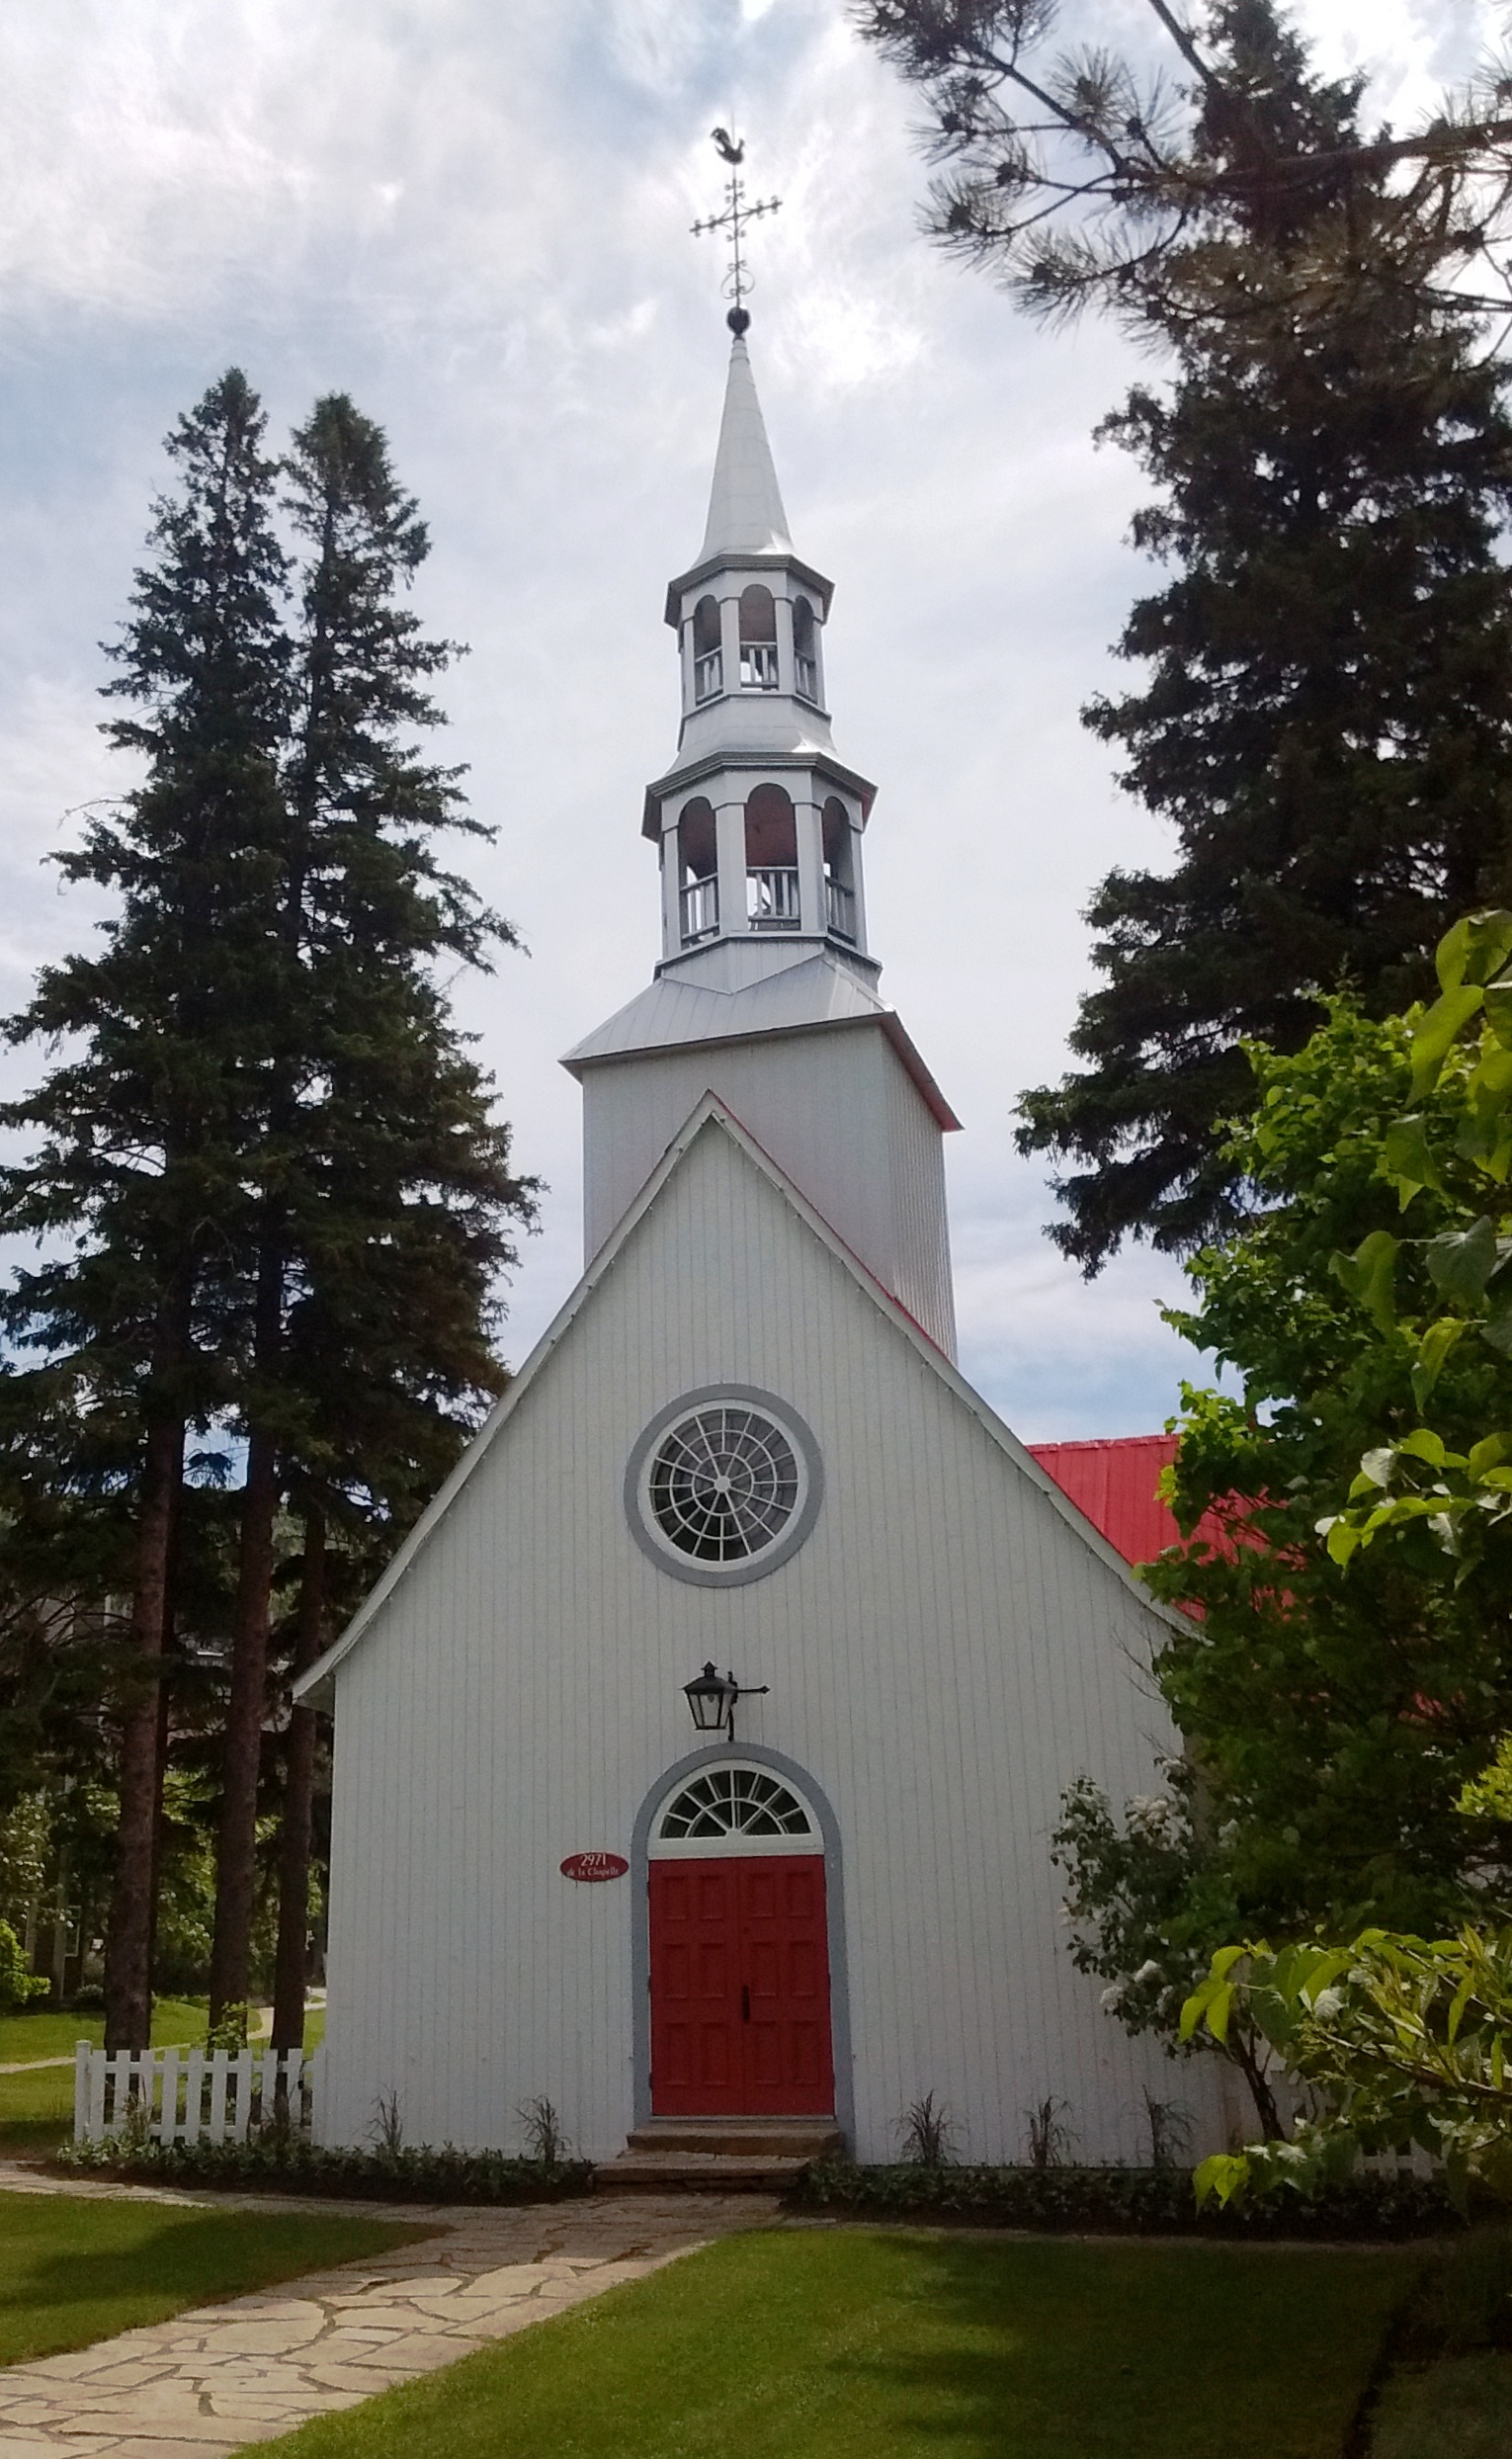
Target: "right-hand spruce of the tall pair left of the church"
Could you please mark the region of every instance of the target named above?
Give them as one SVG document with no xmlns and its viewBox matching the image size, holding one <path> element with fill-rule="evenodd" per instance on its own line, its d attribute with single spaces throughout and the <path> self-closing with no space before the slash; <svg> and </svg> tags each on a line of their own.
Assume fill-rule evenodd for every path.
<svg viewBox="0 0 1512 2459">
<path fill-rule="evenodd" d="M 248 1439 L 226 1731 L 211 2021 L 248 1994 L 256 1815 L 278 1512 L 302 1527 L 295 1662 L 325 1620 L 327 1522 L 359 1554 L 393 1542 L 502 1384 L 494 1286 L 534 1188 L 467 1057 L 435 966 L 487 964 L 514 932 L 440 868 L 445 829 L 487 836 L 415 735 L 452 644 L 398 605 L 428 553 L 381 428 L 315 406 L 288 462 L 300 541 L 295 713 L 285 762 L 288 998 L 248 1175 L 238 1416 Z M 275 2039 L 302 2031 L 315 1736 L 285 1748 Z M 297 1938 L 297 1945 L 295 1945 Z M 295 1984 L 297 1975 L 297 1984 Z"/>
</svg>

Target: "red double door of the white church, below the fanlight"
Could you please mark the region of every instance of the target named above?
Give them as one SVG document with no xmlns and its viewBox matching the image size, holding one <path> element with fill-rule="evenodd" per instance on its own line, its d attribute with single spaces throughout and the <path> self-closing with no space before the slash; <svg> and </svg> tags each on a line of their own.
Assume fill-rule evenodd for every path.
<svg viewBox="0 0 1512 2459">
<path fill-rule="evenodd" d="M 824 1854 L 652 1861 L 656 2117 L 829 2117 Z"/>
</svg>

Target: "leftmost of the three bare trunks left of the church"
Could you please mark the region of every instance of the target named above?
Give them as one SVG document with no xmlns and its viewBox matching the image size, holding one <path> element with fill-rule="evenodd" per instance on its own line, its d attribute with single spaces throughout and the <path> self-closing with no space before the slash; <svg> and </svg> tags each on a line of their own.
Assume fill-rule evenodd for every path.
<svg viewBox="0 0 1512 2459">
<path fill-rule="evenodd" d="M 106 2048 L 152 2036 L 152 1864 L 157 1842 L 157 1692 L 167 1635 L 172 1522 L 184 1473 L 184 1421 L 148 1426 L 138 1571 L 130 1608 L 133 1702 L 120 1729 L 120 1822 L 106 1928 Z"/>
</svg>

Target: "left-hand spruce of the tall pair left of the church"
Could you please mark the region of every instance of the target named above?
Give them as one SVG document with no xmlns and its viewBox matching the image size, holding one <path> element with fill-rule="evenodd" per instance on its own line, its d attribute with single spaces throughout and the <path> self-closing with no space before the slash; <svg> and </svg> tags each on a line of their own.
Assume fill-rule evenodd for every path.
<svg viewBox="0 0 1512 2459">
<path fill-rule="evenodd" d="M 7 1028 L 12 1043 L 69 1048 L 7 1107 L 5 1124 L 42 1143 L 0 1178 L 0 1222 L 52 1247 L 2 1303 L 10 1340 L 37 1360 L 12 1379 L 12 1421 L 30 1397 L 44 1421 L 61 1419 L 64 1475 L 130 1527 L 111 2048 L 150 2036 L 172 1537 L 184 1434 L 226 1397 L 211 1284 L 236 1205 L 241 1077 L 263 1030 L 285 834 L 285 558 L 263 413 L 238 369 L 177 423 L 167 452 L 179 489 L 157 504 L 108 686 L 133 708 L 111 740 L 145 762 L 145 782 L 59 858 L 116 912 L 98 954 L 49 966 Z"/>
</svg>

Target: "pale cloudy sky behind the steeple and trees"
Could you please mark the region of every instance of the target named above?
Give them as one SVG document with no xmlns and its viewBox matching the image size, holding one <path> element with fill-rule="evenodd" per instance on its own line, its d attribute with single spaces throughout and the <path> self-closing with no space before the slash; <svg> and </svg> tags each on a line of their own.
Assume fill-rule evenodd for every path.
<svg viewBox="0 0 1512 2459">
<path fill-rule="evenodd" d="M 1303 15 L 1404 118 L 1502 10 Z M 1033 330 L 919 239 L 917 113 L 843 0 L 7 0 L 0 96 L 0 1008 L 91 927 L 39 866 L 120 787 L 98 642 L 167 425 L 231 361 L 275 438 L 354 393 L 430 524 L 420 612 L 472 644 L 450 752 L 499 839 L 467 863 L 531 947 L 457 984 L 548 1180 L 509 1301 L 526 1355 L 580 1269 L 556 1060 L 659 952 L 661 600 L 703 534 L 728 347 L 718 243 L 688 224 L 720 204 L 708 128 L 738 125 L 752 189 L 784 199 L 752 241 L 757 384 L 794 541 L 836 580 L 836 743 L 880 784 L 873 954 L 964 1119 L 961 1362 L 1028 1439 L 1158 1426 L 1202 1372 L 1158 1320 L 1180 1276 L 1133 1252 L 1087 1286 L 1013 1153 L 1018 1092 L 1065 1067 L 1092 885 L 1168 856 L 1077 723 L 1143 583 L 1138 475 L 1092 445 L 1136 364 L 1106 327 Z"/>
</svg>

